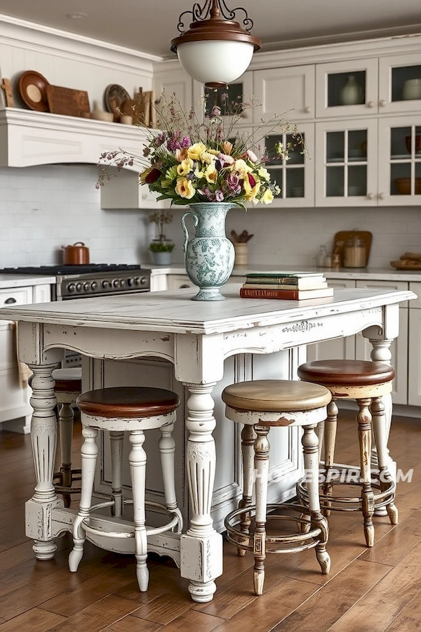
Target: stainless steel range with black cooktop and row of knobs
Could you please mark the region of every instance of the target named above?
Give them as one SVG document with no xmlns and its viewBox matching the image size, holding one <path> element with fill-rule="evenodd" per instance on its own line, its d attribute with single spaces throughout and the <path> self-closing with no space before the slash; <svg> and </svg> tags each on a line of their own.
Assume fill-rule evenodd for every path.
<svg viewBox="0 0 421 632">
<path fill-rule="evenodd" d="M 151 271 L 140 265 L 91 263 L 88 265 L 41 265 L 27 268 L 3 268 L 3 275 L 46 275 L 56 277 L 51 288 L 53 301 L 112 294 L 149 292 Z"/>
</svg>

